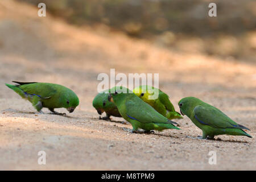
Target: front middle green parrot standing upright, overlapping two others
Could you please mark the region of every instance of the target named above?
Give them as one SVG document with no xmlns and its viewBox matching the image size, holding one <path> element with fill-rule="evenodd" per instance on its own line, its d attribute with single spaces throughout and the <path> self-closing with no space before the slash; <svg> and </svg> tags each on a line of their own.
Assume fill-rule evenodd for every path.
<svg viewBox="0 0 256 182">
<path fill-rule="evenodd" d="M 139 128 L 145 130 L 145 133 L 151 133 L 150 130 L 180 130 L 173 125 L 177 124 L 176 122 L 159 114 L 153 107 L 123 86 L 110 89 L 108 100 L 114 102 L 122 117 L 131 123 L 133 126 L 133 130 L 129 130 L 131 133 L 139 133 Z"/>
</svg>

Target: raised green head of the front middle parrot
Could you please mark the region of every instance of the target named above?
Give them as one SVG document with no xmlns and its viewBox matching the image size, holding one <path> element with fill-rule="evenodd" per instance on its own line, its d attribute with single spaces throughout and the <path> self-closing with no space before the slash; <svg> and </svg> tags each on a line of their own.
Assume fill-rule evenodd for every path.
<svg viewBox="0 0 256 182">
<path fill-rule="evenodd" d="M 128 94 L 134 94 L 131 90 L 125 88 L 124 86 L 115 86 L 110 89 L 108 100 L 110 102 L 122 101 Z"/>
</svg>

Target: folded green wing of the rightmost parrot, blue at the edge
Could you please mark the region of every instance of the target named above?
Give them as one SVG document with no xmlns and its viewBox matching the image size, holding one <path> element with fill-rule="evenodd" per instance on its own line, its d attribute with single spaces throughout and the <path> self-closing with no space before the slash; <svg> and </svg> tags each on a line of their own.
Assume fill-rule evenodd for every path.
<svg viewBox="0 0 256 182">
<path fill-rule="evenodd" d="M 193 110 L 195 118 L 203 125 L 209 125 L 215 128 L 221 129 L 247 129 L 230 119 L 226 114 L 222 113 L 221 110 L 213 106 L 196 106 Z"/>
</svg>

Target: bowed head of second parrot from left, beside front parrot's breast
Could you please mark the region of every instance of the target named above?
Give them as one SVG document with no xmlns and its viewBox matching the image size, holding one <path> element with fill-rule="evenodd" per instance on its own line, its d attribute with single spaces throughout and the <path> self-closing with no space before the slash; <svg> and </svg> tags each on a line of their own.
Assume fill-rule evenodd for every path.
<svg viewBox="0 0 256 182">
<path fill-rule="evenodd" d="M 104 113 L 105 109 L 109 107 L 110 102 L 108 101 L 109 90 L 105 90 L 98 93 L 93 100 L 93 107 L 97 110 L 98 114 Z"/>
</svg>

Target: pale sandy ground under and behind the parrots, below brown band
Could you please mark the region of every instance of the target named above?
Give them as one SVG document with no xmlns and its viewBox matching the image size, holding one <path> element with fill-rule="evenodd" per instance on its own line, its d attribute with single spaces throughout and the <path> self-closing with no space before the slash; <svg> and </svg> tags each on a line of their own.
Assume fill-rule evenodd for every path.
<svg viewBox="0 0 256 182">
<path fill-rule="evenodd" d="M 0 2 L 0 35 L 0 169 L 256 169 L 255 64 L 173 52 L 104 26 L 72 27 L 13 1 Z M 101 121 L 92 100 L 98 74 L 109 74 L 110 68 L 159 73 L 159 87 L 176 109 L 183 97 L 201 98 L 249 127 L 253 139 L 186 138 L 201 135 L 187 117 L 176 120 L 181 130 L 155 134 L 127 133 L 122 128 L 131 125 L 123 125 L 122 118 Z M 80 105 L 68 117 L 37 114 L 4 85 L 12 80 L 65 85 Z M 39 151 L 46 152 L 46 165 L 38 164 Z M 216 165 L 208 163 L 209 151 L 216 151 Z"/>
</svg>

